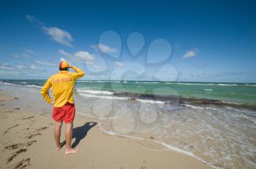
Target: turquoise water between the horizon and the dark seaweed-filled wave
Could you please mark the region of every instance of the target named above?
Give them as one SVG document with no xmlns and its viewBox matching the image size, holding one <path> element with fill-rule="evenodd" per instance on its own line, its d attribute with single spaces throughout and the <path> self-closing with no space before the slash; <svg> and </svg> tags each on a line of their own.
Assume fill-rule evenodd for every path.
<svg viewBox="0 0 256 169">
<path fill-rule="evenodd" d="M 2 84 L 42 87 L 45 80 L 1 80 Z M 147 94 L 145 99 L 158 100 L 165 96 L 166 101 L 176 95 L 181 98 L 213 99 L 218 101 L 256 105 L 256 84 L 252 83 L 207 83 L 207 82 L 140 82 L 140 81 L 78 81 L 78 93 L 101 95 L 107 92 L 118 96 L 133 97 L 133 93 Z M 107 95 L 109 95 L 108 93 Z M 132 96 L 131 96 L 132 95 Z"/>
</svg>

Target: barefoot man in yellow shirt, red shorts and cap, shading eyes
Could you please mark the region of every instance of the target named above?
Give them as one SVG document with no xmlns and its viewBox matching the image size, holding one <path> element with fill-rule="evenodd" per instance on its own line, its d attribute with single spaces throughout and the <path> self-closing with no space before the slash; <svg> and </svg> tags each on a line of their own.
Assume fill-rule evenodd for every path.
<svg viewBox="0 0 256 169">
<path fill-rule="evenodd" d="M 69 72 L 69 68 L 76 72 Z M 73 99 L 73 88 L 75 80 L 84 76 L 84 72 L 75 66 L 69 66 L 69 63 L 62 61 L 59 64 L 59 73 L 50 76 L 42 87 L 42 97 L 50 104 L 53 104 L 52 117 L 56 121 L 54 129 L 54 138 L 56 141 L 56 150 L 61 149 L 60 137 L 62 122 L 66 123 L 66 149 L 65 154 L 78 152 L 78 149 L 71 148 L 73 120 L 75 118 L 75 104 Z M 54 101 L 51 100 L 49 89 L 52 88 Z"/>
</svg>

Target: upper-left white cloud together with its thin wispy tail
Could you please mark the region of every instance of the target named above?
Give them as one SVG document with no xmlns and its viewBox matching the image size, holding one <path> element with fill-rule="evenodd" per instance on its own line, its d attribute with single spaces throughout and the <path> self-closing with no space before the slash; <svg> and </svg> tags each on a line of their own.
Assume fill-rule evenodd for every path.
<svg viewBox="0 0 256 169">
<path fill-rule="evenodd" d="M 26 18 L 30 22 L 39 25 L 39 27 L 42 28 L 42 31 L 44 31 L 45 34 L 50 35 L 50 39 L 53 39 L 53 41 L 58 42 L 59 44 L 64 44 L 67 47 L 72 47 L 73 39 L 68 31 L 57 27 L 46 27 L 44 23 L 32 15 L 26 15 Z"/>
</svg>

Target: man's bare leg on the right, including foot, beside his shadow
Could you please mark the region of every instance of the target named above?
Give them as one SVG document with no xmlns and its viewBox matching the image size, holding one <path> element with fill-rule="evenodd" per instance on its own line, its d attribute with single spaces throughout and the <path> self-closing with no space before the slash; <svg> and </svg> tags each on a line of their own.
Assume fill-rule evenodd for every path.
<svg viewBox="0 0 256 169">
<path fill-rule="evenodd" d="M 75 152 L 78 152 L 78 149 L 72 149 L 71 148 L 71 141 L 72 141 L 72 132 L 73 132 L 73 122 L 69 122 L 66 124 L 66 150 L 65 154 L 72 154 Z"/>
</svg>

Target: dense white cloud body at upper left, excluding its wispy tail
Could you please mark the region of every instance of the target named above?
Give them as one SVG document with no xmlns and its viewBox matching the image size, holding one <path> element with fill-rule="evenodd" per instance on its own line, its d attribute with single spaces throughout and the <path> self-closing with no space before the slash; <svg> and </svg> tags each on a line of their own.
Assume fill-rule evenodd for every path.
<svg viewBox="0 0 256 169">
<path fill-rule="evenodd" d="M 72 47 L 72 36 L 65 30 L 56 27 L 43 27 L 46 34 L 50 35 L 50 39 L 58 42 L 59 44 L 64 44 L 67 47 Z"/>
</svg>

